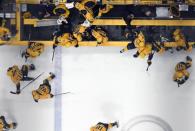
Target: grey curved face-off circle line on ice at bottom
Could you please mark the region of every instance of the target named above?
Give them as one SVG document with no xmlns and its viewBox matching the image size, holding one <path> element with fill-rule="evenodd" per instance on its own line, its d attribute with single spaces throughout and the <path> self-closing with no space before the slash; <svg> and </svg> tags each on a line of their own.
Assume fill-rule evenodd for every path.
<svg viewBox="0 0 195 131">
<path fill-rule="evenodd" d="M 130 131 L 134 126 L 141 123 L 153 123 L 160 126 L 164 131 L 173 131 L 172 127 L 162 118 L 153 115 L 141 115 L 129 120 L 121 131 Z"/>
</svg>

